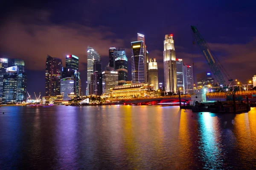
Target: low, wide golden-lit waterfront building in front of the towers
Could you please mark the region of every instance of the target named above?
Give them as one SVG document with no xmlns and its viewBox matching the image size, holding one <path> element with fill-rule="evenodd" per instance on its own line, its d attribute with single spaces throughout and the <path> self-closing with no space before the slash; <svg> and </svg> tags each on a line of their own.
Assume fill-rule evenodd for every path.
<svg viewBox="0 0 256 170">
<path fill-rule="evenodd" d="M 118 85 L 111 89 L 110 97 L 134 98 L 156 96 L 153 86 L 148 83 L 132 83 L 125 85 Z"/>
</svg>

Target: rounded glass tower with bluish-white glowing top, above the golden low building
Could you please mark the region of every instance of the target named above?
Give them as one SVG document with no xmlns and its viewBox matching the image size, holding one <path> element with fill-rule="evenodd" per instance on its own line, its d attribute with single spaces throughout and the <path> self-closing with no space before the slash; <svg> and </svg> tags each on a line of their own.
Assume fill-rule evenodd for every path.
<svg viewBox="0 0 256 170">
<path fill-rule="evenodd" d="M 126 57 L 125 51 L 115 51 L 116 59 L 115 59 L 115 70 L 118 71 L 118 85 L 124 85 L 128 80 L 128 59 Z"/>
</svg>

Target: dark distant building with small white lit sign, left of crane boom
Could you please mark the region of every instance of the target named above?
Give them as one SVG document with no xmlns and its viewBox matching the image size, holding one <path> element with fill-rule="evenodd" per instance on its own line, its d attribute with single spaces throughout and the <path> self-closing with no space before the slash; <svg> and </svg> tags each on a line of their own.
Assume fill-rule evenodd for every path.
<svg viewBox="0 0 256 170">
<path fill-rule="evenodd" d="M 209 85 L 214 86 L 214 78 L 212 78 L 212 73 L 204 71 L 196 75 L 198 88 L 208 87 Z"/>
</svg>

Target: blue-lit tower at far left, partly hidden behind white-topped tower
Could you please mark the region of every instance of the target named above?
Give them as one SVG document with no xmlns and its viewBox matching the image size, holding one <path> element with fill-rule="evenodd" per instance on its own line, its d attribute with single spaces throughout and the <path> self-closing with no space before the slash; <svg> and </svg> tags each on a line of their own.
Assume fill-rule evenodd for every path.
<svg viewBox="0 0 256 170">
<path fill-rule="evenodd" d="M 26 85 L 27 75 L 25 73 L 25 61 L 23 59 L 9 59 L 8 66 L 18 67 L 18 80 L 17 80 L 17 102 L 26 102 Z"/>
</svg>

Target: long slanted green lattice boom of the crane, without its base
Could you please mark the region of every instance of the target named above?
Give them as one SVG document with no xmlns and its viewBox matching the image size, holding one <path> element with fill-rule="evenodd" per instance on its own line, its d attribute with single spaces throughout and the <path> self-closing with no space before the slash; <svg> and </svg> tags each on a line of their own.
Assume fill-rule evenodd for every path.
<svg viewBox="0 0 256 170">
<path fill-rule="evenodd" d="M 215 57 L 211 54 L 209 50 L 209 46 L 205 42 L 204 38 L 201 36 L 201 34 L 198 32 L 197 28 L 195 26 L 191 26 L 191 29 L 194 33 L 195 40 L 198 43 L 199 48 L 201 49 L 205 59 L 207 60 L 208 65 L 210 66 L 215 78 L 217 79 L 217 82 L 220 86 L 228 86 L 223 75 L 221 74 L 221 70 L 224 69 L 224 67 L 221 65 L 221 63 L 218 63 L 218 59 L 215 59 Z M 224 74 L 227 74 L 224 72 Z M 227 77 L 229 79 L 229 77 Z M 231 79 L 229 81 L 232 81 Z"/>
</svg>

